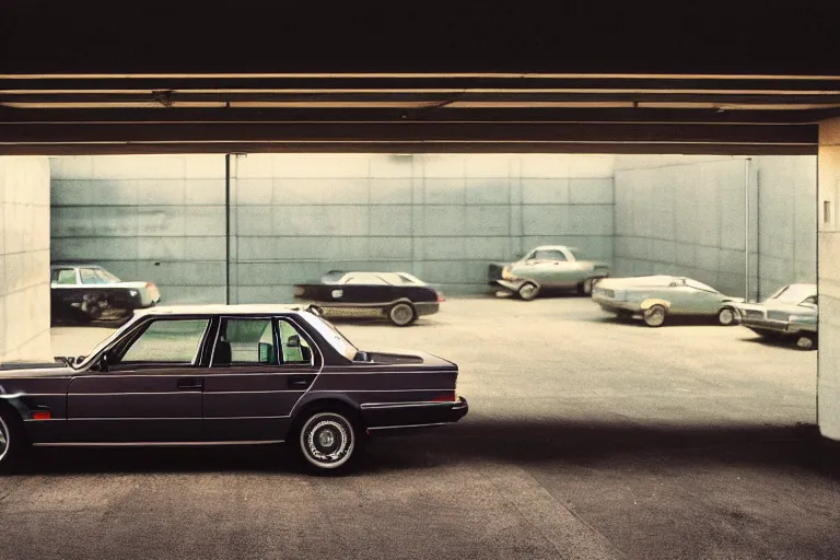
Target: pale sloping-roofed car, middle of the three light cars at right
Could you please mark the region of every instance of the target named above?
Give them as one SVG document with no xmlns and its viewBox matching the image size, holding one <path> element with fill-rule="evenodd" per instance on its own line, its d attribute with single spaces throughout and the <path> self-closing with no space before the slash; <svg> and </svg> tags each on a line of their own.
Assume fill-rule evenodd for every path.
<svg viewBox="0 0 840 560">
<path fill-rule="evenodd" d="M 734 325 L 734 305 L 744 301 L 691 278 L 666 275 L 600 280 L 592 300 L 605 311 L 641 318 L 650 327 L 661 327 L 667 317 L 678 315 L 716 316 L 721 325 Z"/>
</svg>

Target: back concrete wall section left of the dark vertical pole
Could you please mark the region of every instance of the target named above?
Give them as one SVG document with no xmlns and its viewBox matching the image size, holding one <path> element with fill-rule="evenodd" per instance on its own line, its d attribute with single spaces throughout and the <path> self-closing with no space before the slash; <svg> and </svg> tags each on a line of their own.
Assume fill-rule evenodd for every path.
<svg viewBox="0 0 840 560">
<path fill-rule="evenodd" d="M 153 281 L 168 303 L 224 303 L 224 158 L 50 160 L 52 258 Z"/>
</svg>

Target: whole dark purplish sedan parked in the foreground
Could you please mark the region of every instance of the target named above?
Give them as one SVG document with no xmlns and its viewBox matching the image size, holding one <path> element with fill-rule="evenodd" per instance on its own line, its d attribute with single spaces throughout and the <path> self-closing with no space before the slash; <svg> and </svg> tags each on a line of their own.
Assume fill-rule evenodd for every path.
<svg viewBox="0 0 840 560">
<path fill-rule="evenodd" d="M 0 366 L 0 470 L 28 444 L 290 442 L 335 472 L 371 434 L 460 420 L 457 377 L 429 353 L 360 350 L 298 306 L 153 307 L 86 357 Z"/>
</svg>

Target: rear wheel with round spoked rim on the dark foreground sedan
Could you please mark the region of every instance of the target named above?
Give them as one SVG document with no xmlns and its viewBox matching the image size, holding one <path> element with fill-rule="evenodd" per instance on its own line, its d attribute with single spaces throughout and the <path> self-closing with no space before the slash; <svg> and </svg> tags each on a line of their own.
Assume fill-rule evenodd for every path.
<svg viewBox="0 0 840 560">
<path fill-rule="evenodd" d="M 307 413 L 298 430 L 298 451 L 306 467 L 317 474 L 346 472 L 363 447 L 364 430 L 339 409 Z"/>
</svg>

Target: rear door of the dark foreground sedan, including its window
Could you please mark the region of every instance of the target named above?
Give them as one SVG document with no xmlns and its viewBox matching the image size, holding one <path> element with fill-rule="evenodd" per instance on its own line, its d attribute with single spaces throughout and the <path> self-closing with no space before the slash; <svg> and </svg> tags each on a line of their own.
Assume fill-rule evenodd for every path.
<svg viewBox="0 0 840 560">
<path fill-rule="evenodd" d="M 221 317 L 205 374 L 203 439 L 285 439 L 291 411 L 320 369 L 313 341 L 291 318 Z"/>
</svg>

